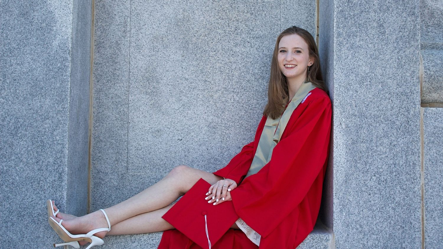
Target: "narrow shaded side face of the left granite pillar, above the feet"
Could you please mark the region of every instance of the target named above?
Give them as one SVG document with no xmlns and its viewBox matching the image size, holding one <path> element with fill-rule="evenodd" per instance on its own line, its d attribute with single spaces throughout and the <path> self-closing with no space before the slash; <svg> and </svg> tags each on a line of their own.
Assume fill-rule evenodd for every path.
<svg viewBox="0 0 443 249">
<path fill-rule="evenodd" d="M 73 2 L 66 211 L 85 215 L 88 199 L 91 0 Z"/>
</svg>

